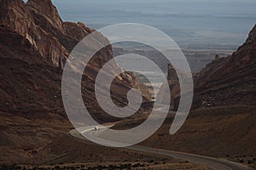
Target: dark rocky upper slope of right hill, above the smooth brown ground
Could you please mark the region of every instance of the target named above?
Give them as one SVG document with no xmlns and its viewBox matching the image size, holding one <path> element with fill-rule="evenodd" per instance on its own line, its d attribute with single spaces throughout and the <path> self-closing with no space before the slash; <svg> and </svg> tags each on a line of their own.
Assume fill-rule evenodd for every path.
<svg viewBox="0 0 256 170">
<path fill-rule="evenodd" d="M 216 59 L 195 79 L 195 107 L 255 105 L 256 26 L 247 41 L 227 58 Z"/>
</svg>

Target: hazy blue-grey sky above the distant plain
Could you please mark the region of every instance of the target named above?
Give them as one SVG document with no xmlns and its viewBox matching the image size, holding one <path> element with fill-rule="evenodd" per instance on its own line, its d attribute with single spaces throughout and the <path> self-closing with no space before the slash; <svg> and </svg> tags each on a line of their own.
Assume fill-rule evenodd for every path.
<svg viewBox="0 0 256 170">
<path fill-rule="evenodd" d="M 63 20 L 99 29 L 118 23 L 159 28 L 178 45 L 223 44 L 238 47 L 256 23 L 256 1 L 225 0 L 53 0 Z"/>
</svg>

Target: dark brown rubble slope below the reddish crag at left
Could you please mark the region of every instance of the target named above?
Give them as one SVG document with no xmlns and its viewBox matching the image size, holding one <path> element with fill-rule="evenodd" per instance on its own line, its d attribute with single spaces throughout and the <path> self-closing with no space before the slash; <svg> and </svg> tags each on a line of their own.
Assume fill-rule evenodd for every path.
<svg viewBox="0 0 256 170">
<path fill-rule="evenodd" d="M 0 26 L 0 39 L 1 116 L 64 116 L 61 69 L 49 65 L 26 37 L 9 27 Z"/>
</svg>

